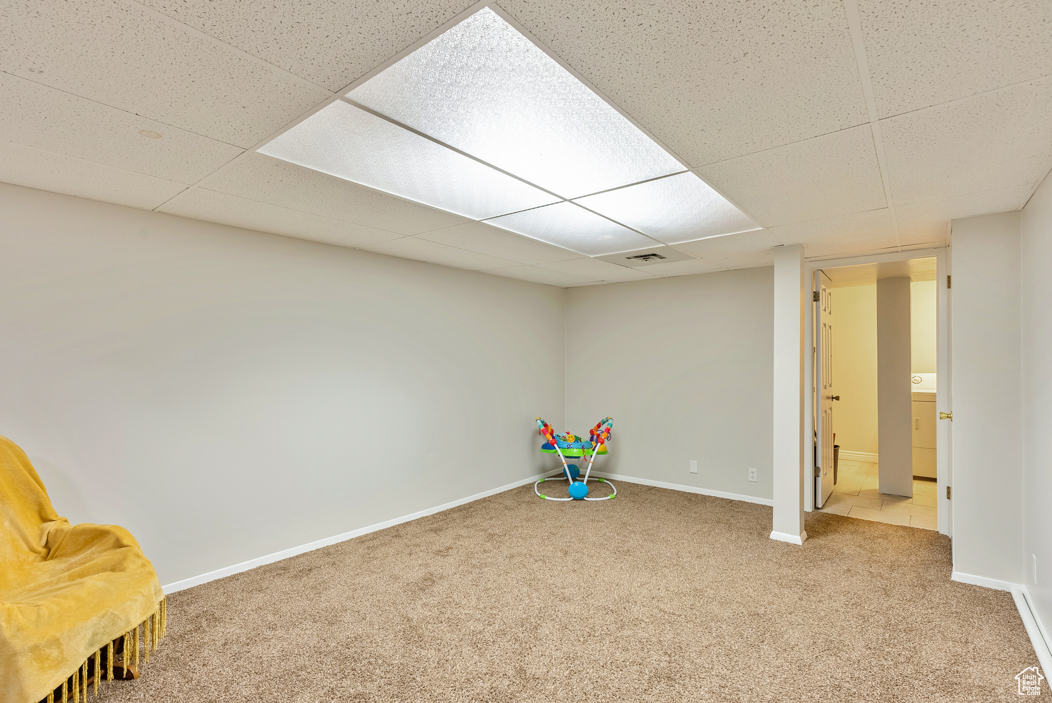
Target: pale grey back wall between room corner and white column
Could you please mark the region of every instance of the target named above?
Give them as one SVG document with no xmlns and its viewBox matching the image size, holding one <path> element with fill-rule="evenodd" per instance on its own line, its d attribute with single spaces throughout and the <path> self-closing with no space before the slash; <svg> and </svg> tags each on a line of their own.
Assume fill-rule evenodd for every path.
<svg viewBox="0 0 1052 703">
<path fill-rule="evenodd" d="M 772 296 L 771 268 L 568 289 L 565 429 L 609 415 L 600 470 L 770 499 Z"/>
</svg>

